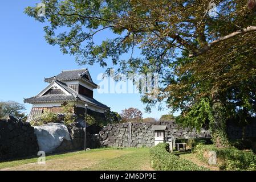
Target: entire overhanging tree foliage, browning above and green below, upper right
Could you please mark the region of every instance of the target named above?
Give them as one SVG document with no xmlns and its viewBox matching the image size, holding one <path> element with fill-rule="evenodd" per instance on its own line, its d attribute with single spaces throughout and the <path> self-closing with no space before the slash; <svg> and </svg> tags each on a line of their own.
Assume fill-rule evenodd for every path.
<svg viewBox="0 0 256 182">
<path fill-rule="evenodd" d="M 221 132 L 227 115 L 255 113 L 254 0 L 42 2 L 45 16 L 39 17 L 36 7 L 27 7 L 26 13 L 48 22 L 47 42 L 75 55 L 78 63 L 119 65 L 117 71 L 123 73 L 159 73 L 159 97 L 143 97 L 147 110 L 166 99 L 173 111 L 182 111 L 185 123 L 199 127 L 210 120 Z M 102 31 L 115 38 L 94 42 Z M 141 56 L 133 55 L 135 49 Z M 127 53 L 130 58 L 122 60 Z"/>
</svg>

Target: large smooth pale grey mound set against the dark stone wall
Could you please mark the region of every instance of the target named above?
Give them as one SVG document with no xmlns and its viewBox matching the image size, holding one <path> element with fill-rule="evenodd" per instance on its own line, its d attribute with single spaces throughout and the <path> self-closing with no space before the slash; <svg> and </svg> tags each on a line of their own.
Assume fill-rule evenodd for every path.
<svg viewBox="0 0 256 182">
<path fill-rule="evenodd" d="M 35 135 L 38 140 L 40 151 L 51 153 L 59 147 L 63 139 L 71 140 L 67 126 L 60 123 L 48 123 L 47 125 L 35 126 Z"/>
</svg>

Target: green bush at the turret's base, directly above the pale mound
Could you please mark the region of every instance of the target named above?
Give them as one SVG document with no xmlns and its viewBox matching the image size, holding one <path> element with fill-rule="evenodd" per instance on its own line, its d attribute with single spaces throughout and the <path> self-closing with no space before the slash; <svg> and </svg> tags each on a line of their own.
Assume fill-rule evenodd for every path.
<svg viewBox="0 0 256 182">
<path fill-rule="evenodd" d="M 40 126 L 40 125 L 44 125 L 52 122 L 60 122 L 60 119 L 56 113 L 47 112 L 40 115 L 39 117 L 32 119 L 32 121 L 30 122 L 30 125 Z"/>
</svg>

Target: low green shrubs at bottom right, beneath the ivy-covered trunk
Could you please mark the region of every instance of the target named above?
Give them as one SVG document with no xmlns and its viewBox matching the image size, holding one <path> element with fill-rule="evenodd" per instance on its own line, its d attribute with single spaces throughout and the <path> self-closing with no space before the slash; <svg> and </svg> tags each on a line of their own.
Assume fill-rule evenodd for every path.
<svg viewBox="0 0 256 182">
<path fill-rule="evenodd" d="M 208 160 L 205 157 L 206 152 L 216 151 L 217 165 L 221 170 L 256 170 L 256 155 L 251 151 L 242 151 L 235 147 L 217 148 L 213 145 L 204 145 L 202 143 L 198 144 L 194 151 L 203 162 L 207 162 Z"/>
</svg>

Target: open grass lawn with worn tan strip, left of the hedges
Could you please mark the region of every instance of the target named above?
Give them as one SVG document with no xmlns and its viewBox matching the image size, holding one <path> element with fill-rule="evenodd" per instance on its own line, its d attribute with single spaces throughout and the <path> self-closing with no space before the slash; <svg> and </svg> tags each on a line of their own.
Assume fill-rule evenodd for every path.
<svg viewBox="0 0 256 182">
<path fill-rule="evenodd" d="M 100 148 L 0 163 L 0 170 L 151 170 L 149 148 Z"/>
</svg>

